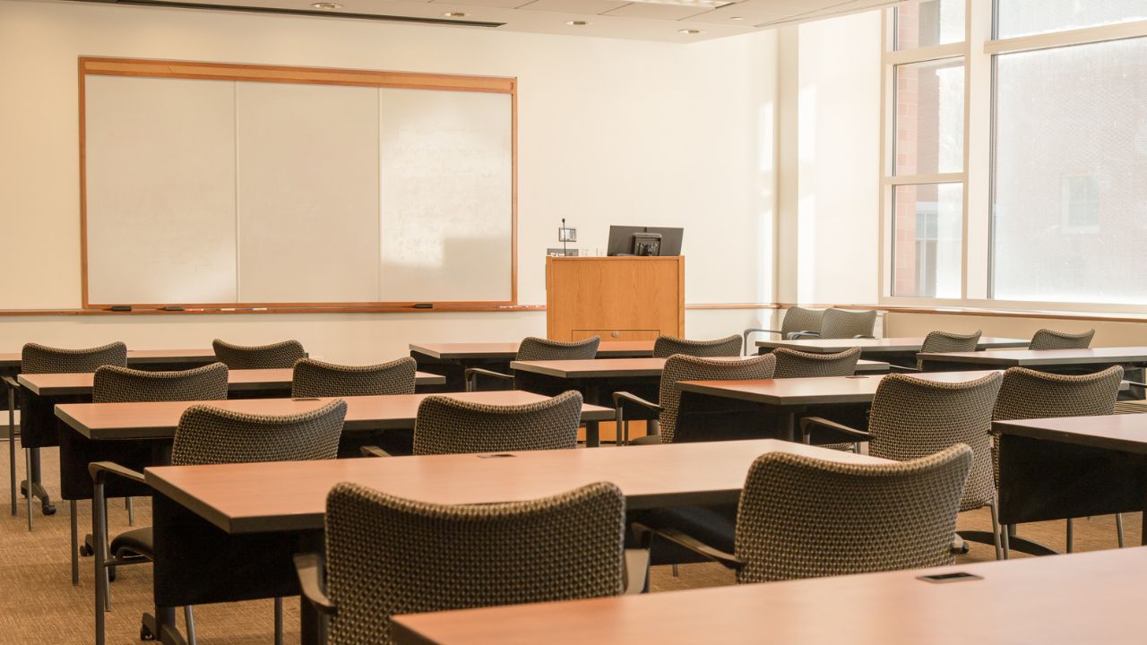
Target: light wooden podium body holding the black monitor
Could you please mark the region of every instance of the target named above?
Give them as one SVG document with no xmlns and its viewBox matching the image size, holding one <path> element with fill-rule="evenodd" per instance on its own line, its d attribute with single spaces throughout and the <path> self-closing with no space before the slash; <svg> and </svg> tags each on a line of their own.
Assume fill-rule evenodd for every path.
<svg viewBox="0 0 1147 645">
<path fill-rule="evenodd" d="M 553 341 L 685 336 L 685 257 L 546 257 Z"/>
</svg>

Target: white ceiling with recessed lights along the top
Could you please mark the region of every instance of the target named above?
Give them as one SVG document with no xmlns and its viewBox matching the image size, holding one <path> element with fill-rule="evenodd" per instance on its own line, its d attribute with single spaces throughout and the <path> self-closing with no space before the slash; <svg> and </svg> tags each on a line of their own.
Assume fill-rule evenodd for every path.
<svg viewBox="0 0 1147 645">
<path fill-rule="evenodd" d="M 217 10 L 304 13 L 351 20 L 397 18 L 497 29 L 670 42 L 695 42 L 787 23 L 861 11 L 898 0 L 92 0 Z M 461 15 L 459 15 L 461 14 Z M 484 24 L 466 24 L 484 23 Z M 493 24 L 490 24 L 493 23 Z M 500 24 L 499 24 L 500 23 Z M 587 23 L 587 24 L 568 24 Z M 497 26 L 496 26 L 497 25 Z M 700 30 L 700 33 L 682 33 Z"/>
</svg>

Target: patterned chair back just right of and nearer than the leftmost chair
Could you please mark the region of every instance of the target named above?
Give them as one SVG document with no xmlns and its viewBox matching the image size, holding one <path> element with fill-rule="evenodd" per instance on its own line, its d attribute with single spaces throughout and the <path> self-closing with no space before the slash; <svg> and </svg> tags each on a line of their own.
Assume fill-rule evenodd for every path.
<svg viewBox="0 0 1147 645">
<path fill-rule="evenodd" d="M 92 403 L 221 401 L 227 398 L 227 366 L 212 363 L 179 372 L 145 372 L 104 365 L 92 378 Z"/>
</svg>

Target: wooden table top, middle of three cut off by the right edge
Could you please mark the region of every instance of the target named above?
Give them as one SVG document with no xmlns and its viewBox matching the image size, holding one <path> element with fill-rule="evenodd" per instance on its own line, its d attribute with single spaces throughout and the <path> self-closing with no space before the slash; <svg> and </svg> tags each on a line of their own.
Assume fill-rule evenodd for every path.
<svg viewBox="0 0 1147 645">
<path fill-rule="evenodd" d="M 1147 454 L 1147 414 L 992 421 L 1000 434 Z"/>
</svg>

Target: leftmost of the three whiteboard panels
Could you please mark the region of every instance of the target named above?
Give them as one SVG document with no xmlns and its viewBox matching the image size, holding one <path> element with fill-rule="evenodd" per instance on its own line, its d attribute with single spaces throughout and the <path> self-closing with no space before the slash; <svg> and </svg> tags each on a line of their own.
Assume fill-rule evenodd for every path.
<svg viewBox="0 0 1147 645">
<path fill-rule="evenodd" d="M 234 84 L 93 76 L 85 102 L 88 301 L 234 302 Z"/>
</svg>

